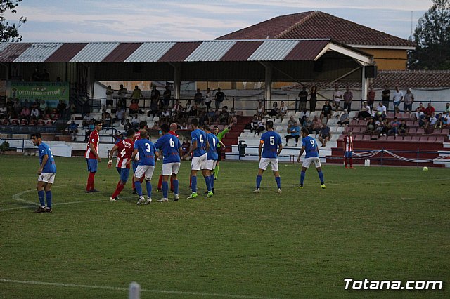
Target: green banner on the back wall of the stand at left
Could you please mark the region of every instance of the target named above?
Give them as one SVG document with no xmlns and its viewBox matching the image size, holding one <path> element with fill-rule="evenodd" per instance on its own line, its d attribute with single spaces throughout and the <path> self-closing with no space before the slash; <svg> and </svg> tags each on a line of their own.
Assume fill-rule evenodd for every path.
<svg viewBox="0 0 450 299">
<path fill-rule="evenodd" d="M 56 107 L 59 100 L 69 104 L 68 82 L 18 82 L 11 81 L 9 97 L 21 101 L 27 99 L 33 102 L 36 99 L 45 100 L 47 106 Z"/>
</svg>

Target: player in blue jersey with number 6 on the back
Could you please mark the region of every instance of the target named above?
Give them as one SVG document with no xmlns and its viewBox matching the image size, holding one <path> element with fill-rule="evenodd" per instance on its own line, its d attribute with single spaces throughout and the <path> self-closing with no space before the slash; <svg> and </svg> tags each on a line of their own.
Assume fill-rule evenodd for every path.
<svg viewBox="0 0 450 299">
<path fill-rule="evenodd" d="M 178 174 L 181 166 L 180 157 L 183 155 L 181 142 L 175 135 L 169 134 L 169 125 L 161 125 L 162 136 L 156 141 L 155 147 L 162 151 L 162 199 L 158 202 L 169 201 L 167 193 L 169 192 L 169 177 L 172 176 L 172 185 L 174 186 L 174 201 L 179 199 L 178 193 Z"/>
</svg>

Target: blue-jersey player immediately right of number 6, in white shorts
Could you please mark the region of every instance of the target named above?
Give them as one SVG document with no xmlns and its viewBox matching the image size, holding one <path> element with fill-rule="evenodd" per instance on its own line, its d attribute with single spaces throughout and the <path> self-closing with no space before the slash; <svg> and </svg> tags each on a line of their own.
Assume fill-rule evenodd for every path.
<svg viewBox="0 0 450 299">
<path fill-rule="evenodd" d="M 207 198 L 212 197 L 213 193 L 211 191 L 211 184 L 210 184 L 210 176 L 208 175 L 207 170 L 207 154 L 206 151 L 210 149 L 210 143 L 207 141 L 207 136 L 205 131 L 200 130 L 198 128 L 198 119 L 193 119 L 191 121 L 191 127 L 193 129 L 191 133 L 191 140 L 192 145 L 191 149 L 187 154 L 183 156 L 184 159 L 186 157 L 189 157 L 191 152 L 193 152 L 193 158 L 191 162 L 191 176 L 192 176 L 192 194 L 188 197 L 188 199 L 195 199 L 195 197 L 198 197 L 197 194 L 197 171 L 202 171 L 203 177 L 205 178 L 206 187 L 208 190 Z"/>
</svg>

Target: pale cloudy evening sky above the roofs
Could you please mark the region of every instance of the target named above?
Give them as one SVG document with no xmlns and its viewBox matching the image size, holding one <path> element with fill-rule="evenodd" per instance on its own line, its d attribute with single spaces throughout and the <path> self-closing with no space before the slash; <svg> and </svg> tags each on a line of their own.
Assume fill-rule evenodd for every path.
<svg viewBox="0 0 450 299">
<path fill-rule="evenodd" d="M 369 5 L 368 3 L 371 2 Z M 404 39 L 431 0 L 23 0 L 24 42 L 203 41 L 278 15 L 323 11 Z"/>
</svg>

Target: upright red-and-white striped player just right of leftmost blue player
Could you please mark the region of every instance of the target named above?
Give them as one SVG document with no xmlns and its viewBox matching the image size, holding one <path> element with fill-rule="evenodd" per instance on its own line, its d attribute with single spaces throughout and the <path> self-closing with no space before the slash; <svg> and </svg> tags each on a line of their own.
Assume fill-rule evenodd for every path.
<svg viewBox="0 0 450 299">
<path fill-rule="evenodd" d="M 94 188 L 94 178 L 97 172 L 98 162 L 101 162 L 101 158 L 98 155 L 98 133 L 101 131 L 101 121 L 94 122 L 94 131 L 89 135 L 89 142 L 87 142 L 87 149 L 84 154 L 87 162 L 87 171 L 89 171 L 89 177 L 87 178 L 86 193 L 98 192 Z"/>
</svg>

